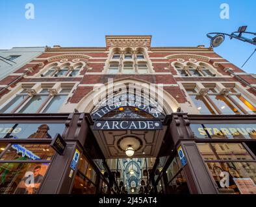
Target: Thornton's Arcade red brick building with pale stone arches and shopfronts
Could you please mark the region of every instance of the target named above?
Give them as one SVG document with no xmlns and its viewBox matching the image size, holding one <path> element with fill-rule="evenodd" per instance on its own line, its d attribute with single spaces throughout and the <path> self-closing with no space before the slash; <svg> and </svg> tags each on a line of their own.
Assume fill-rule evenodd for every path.
<svg viewBox="0 0 256 207">
<path fill-rule="evenodd" d="M 105 100 L 131 83 L 125 94 L 143 88 L 149 97 L 147 107 L 157 105 L 164 114 L 162 129 L 97 131 L 96 123 L 100 125 L 104 118 L 116 123 L 120 117 L 156 118 L 152 111 L 158 108 L 148 113 L 129 105 L 94 118 L 98 110 L 109 110 L 102 105 Z M 149 85 L 155 87 L 155 94 L 147 92 Z M 40 188 L 24 190 L 20 179 L 15 186 L 12 178 L 6 183 L 14 171 L 8 169 L 1 193 L 19 193 L 17 189 L 23 193 L 256 193 L 255 86 L 251 74 L 203 45 L 151 47 L 151 36 L 106 36 L 106 47 L 46 47 L 43 54 L 0 81 L 0 134 L 5 138 L 0 139 L 0 173 L 17 159 L 9 155 L 14 144 L 47 157 L 33 148 L 38 144 L 51 152 L 47 158 L 18 163 L 29 163 L 31 168 L 24 167 L 27 171 L 41 163 L 38 169 L 44 179 Z M 30 131 L 17 127 L 25 123 L 40 124 Z M 49 147 L 48 137 L 56 133 L 66 141 L 64 155 Z M 127 160 L 130 145 L 134 145 L 134 158 Z M 77 150 L 85 161 L 72 168 Z M 179 151 L 186 162 L 179 160 Z M 221 171 L 229 173 L 230 186 L 221 185 Z M 243 179 L 251 186 L 243 187 Z M 7 189 L 10 186 L 13 191 Z"/>
</svg>

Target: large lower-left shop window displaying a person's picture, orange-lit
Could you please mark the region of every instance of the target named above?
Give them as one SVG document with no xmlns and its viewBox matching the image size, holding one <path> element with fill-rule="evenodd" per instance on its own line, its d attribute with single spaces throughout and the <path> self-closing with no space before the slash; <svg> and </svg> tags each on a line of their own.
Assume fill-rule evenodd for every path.
<svg viewBox="0 0 256 207">
<path fill-rule="evenodd" d="M 35 194 L 49 163 L 0 163 L 0 194 Z"/>
</svg>

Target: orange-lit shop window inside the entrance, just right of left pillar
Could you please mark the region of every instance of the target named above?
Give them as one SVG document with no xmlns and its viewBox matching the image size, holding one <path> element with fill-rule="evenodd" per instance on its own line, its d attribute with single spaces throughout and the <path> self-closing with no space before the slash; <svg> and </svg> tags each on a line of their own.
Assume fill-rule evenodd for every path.
<svg viewBox="0 0 256 207">
<path fill-rule="evenodd" d="M 77 174 L 71 194 L 95 194 L 96 193 L 96 171 L 90 166 L 84 155 L 81 155 Z"/>
</svg>

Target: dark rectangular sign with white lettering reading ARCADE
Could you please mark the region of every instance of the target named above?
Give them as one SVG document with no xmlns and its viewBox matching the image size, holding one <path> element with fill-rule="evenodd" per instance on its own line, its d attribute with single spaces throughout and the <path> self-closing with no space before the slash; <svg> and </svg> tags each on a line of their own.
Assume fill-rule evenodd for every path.
<svg viewBox="0 0 256 207">
<path fill-rule="evenodd" d="M 162 129 L 160 120 L 96 120 L 96 130 L 159 130 Z"/>
</svg>

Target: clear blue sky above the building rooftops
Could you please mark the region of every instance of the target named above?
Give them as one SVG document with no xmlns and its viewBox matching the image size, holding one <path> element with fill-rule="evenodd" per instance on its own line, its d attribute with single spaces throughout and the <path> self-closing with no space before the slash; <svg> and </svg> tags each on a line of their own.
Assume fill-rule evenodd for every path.
<svg viewBox="0 0 256 207">
<path fill-rule="evenodd" d="M 25 5 L 34 5 L 34 19 Z M 220 5 L 229 5 L 221 19 Z M 29 46 L 105 47 L 105 35 L 152 35 L 152 46 L 209 47 L 208 32 L 256 32 L 255 0 L 10 0 L 0 1 L 0 49 Z M 254 45 L 226 38 L 215 51 L 241 67 Z M 243 67 L 255 72 L 256 53 Z"/>
</svg>

